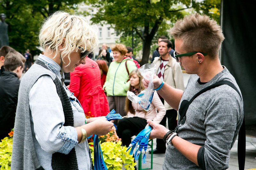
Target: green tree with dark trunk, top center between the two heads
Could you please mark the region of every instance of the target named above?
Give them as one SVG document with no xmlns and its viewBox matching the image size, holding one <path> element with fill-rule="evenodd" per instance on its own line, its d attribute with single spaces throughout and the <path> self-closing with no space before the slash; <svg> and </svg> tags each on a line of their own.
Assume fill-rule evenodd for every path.
<svg viewBox="0 0 256 170">
<path fill-rule="evenodd" d="M 157 31 L 163 32 L 166 29 L 164 21 L 172 25 L 188 14 L 185 9 L 205 13 L 213 18 L 218 18 L 216 13 L 220 10 L 220 0 L 87 0 L 87 3 L 98 9 L 92 18 L 94 23 L 108 23 L 124 36 L 134 30 L 143 44 L 141 64 L 148 63 L 152 40 Z M 213 9 L 217 12 L 213 12 Z"/>
</svg>

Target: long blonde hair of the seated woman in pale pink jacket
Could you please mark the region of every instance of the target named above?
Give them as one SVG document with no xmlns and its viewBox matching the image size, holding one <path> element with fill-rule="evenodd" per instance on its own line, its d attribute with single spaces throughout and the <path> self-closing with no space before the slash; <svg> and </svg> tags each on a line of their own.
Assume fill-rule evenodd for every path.
<svg viewBox="0 0 256 170">
<path fill-rule="evenodd" d="M 143 83 L 142 83 L 142 75 L 140 74 L 140 71 L 138 69 L 135 69 L 135 70 L 132 70 L 132 72 L 129 74 L 129 79 L 132 77 L 133 74 L 136 74 L 139 78 L 140 78 L 140 83 L 139 83 L 139 93 L 145 89 L 145 87 L 143 86 Z M 129 86 L 129 91 L 132 90 L 132 85 L 130 84 Z M 125 99 L 125 106 L 124 106 L 124 110 L 126 113 L 130 112 L 132 114 L 135 114 L 135 110 L 134 108 L 132 107 L 132 102 L 131 100 L 128 99 L 128 97 L 126 96 L 126 99 Z"/>
</svg>

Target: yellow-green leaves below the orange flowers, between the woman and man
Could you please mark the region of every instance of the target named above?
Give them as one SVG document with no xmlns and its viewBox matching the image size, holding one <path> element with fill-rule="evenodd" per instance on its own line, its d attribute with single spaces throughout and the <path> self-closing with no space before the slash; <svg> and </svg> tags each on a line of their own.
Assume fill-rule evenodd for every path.
<svg viewBox="0 0 256 170">
<path fill-rule="evenodd" d="M 92 162 L 94 152 L 93 152 L 93 143 L 89 143 L 89 147 L 91 149 L 91 157 Z M 126 147 L 121 146 L 121 141 L 116 142 L 103 142 L 100 144 L 101 151 L 103 154 L 104 162 L 108 168 L 108 170 L 114 170 L 114 169 L 122 169 L 126 168 L 127 170 L 134 170 L 134 166 L 137 164 L 134 162 L 134 158 L 132 158 L 132 155 L 129 155 L 129 152 L 126 152 Z"/>
</svg>

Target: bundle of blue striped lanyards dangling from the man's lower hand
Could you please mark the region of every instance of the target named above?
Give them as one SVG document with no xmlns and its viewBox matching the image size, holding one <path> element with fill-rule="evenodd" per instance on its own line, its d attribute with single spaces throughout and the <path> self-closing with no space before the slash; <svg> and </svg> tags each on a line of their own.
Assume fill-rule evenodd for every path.
<svg viewBox="0 0 256 170">
<path fill-rule="evenodd" d="M 141 151 L 144 149 L 144 155 L 142 158 L 142 163 L 145 164 L 146 163 L 146 151 L 148 148 L 148 138 L 149 138 L 149 134 L 151 132 L 151 127 L 147 126 L 145 129 L 141 130 L 140 133 L 135 137 L 135 139 L 133 139 L 132 143 L 129 144 L 126 152 L 132 147 L 131 151 L 130 151 L 130 155 L 132 155 L 133 150 L 136 147 L 137 144 L 137 148 L 136 151 L 134 153 L 134 159 L 138 160 Z"/>
</svg>

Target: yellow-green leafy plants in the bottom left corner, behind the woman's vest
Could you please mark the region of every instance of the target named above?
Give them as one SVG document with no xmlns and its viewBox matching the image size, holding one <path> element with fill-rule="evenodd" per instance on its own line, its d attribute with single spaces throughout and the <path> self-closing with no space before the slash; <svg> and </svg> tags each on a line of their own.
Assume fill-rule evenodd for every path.
<svg viewBox="0 0 256 170">
<path fill-rule="evenodd" d="M 5 137 L 0 142 L 0 170 L 11 169 L 12 161 L 12 138 Z"/>
</svg>

